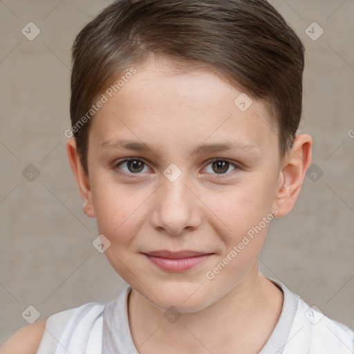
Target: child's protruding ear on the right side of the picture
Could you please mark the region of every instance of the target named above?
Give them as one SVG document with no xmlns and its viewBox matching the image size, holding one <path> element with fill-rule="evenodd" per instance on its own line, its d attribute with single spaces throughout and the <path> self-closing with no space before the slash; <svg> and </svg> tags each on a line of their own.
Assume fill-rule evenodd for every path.
<svg viewBox="0 0 354 354">
<path fill-rule="evenodd" d="M 294 140 L 291 151 L 283 158 L 279 183 L 274 200 L 277 216 L 283 216 L 294 207 L 306 171 L 311 163 L 313 139 L 308 134 L 299 134 Z"/>
</svg>

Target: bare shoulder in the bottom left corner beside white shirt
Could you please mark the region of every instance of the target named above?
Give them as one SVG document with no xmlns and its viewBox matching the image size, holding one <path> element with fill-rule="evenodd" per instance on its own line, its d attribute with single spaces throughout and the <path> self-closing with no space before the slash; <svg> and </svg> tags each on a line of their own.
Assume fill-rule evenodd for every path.
<svg viewBox="0 0 354 354">
<path fill-rule="evenodd" d="M 0 354 L 35 354 L 45 328 L 46 320 L 20 328 L 0 347 Z"/>
</svg>

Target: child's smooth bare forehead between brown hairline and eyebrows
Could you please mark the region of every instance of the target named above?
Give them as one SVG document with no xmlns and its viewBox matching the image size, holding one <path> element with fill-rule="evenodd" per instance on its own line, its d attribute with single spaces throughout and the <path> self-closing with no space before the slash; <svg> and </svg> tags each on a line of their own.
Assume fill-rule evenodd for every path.
<svg viewBox="0 0 354 354">
<path fill-rule="evenodd" d="M 216 140 L 259 148 L 277 145 L 277 131 L 263 102 L 251 100 L 214 71 L 181 70 L 156 59 L 134 68 L 136 73 L 107 96 L 93 118 L 90 144 L 98 147 L 129 136 L 160 143 L 163 149 L 182 142 L 188 151 L 194 143 Z"/>
</svg>

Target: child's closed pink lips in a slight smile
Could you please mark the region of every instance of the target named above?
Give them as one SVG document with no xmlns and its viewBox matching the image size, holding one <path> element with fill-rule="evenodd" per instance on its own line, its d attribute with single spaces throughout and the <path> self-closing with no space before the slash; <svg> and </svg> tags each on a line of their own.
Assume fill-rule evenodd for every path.
<svg viewBox="0 0 354 354">
<path fill-rule="evenodd" d="M 168 250 L 144 253 L 147 258 L 162 270 L 183 272 L 194 268 L 212 255 L 212 253 L 184 250 L 171 252 Z"/>
</svg>

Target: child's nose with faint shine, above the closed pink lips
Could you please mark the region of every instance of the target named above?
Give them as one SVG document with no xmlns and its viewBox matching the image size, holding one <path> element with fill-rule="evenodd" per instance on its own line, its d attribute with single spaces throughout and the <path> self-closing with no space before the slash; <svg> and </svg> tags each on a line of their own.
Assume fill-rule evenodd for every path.
<svg viewBox="0 0 354 354">
<path fill-rule="evenodd" d="M 153 209 L 149 214 L 151 225 L 156 230 L 178 236 L 201 225 L 201 201 L 190 189 L 182 176 L 174 182 L 167 178 L 162 181 L 151 201 Z"/>
</svg>

